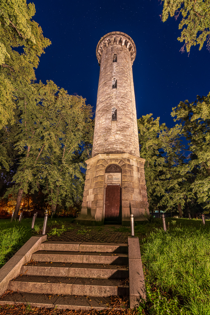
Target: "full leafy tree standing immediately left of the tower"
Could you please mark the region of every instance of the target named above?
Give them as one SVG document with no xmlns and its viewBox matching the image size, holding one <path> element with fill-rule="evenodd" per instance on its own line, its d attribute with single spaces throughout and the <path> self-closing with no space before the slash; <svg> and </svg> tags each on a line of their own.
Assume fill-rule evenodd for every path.
<svg viewBox="0 0 210 315">
<path fill-rule="evenodd" d="M 40 185 L 48 192 L 52 211 L 61 197 L 71 204 L 81 194 L 84 179 L 80 167 L 85 166 L 79 163 L 77 151 L 92 122 L 91 106 L 85 99 L 68 95 L 52 81 L 28 84 L 17 96 L 16 124 L 11 126 L 7 142 L 15 143 L 20 159 L 15 184 L 5 194 L 17 196 L 14 218 L 23 193 L 29 189 L 33 193 Z"/>
</svg>

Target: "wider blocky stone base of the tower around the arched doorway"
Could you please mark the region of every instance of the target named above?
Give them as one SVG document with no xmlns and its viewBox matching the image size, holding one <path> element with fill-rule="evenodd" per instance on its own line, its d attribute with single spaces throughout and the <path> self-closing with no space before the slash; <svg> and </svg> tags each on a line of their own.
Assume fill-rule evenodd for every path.
<svg viewBox="0 0 210 315">
<path fill-rule="evenodd" d="M 117 164 L 122 169 L 122 225 L 130 226 L 130 214 L 134 221 L 145 220 L 149 215 L 145 185 L 145 159 L 129 153 L 98 154 L 87 163 L 82 210 L 75 221 L 86 225 L 102 225 L 105 216 L 105 169 Z"/>
</svg>

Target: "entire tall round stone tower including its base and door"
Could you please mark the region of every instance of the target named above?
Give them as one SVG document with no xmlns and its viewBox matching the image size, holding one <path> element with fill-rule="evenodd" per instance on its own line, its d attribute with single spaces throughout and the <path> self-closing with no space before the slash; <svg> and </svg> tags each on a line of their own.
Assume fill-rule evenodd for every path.
<svg viewBox="0 0 210 315">
<path fill-rule="evenodd" d="M 111 32 L 99 40 L 96 56 L 100 74 L 93 151 L 76 220 L 130 225 L 131 213 L 135 221 L 143 220 L 145 211 L 149 214 L 133 88 L 136 46 L 127 34 Z"/>
</svg>

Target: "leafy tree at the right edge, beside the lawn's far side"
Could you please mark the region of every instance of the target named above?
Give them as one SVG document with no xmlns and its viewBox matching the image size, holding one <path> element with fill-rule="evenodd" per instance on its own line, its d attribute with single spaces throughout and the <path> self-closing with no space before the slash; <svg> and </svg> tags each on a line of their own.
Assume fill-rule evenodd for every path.
<svg viewBox="0 0 210 315">
<path fill-rule="evenodd" d="M 181 121 L 182 135 L 188 142 L 192 196 L 210 209 L 210 93 L 198 95 L 193 102 L 180 102 L 173 108 L 172 116 L 174 121 Z"/>
</svg>

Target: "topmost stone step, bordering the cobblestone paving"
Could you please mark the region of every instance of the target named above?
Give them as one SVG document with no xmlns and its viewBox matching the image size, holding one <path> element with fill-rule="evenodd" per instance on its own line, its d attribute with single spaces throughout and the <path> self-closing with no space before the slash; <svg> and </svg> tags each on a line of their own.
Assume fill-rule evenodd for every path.
<svg viewBox="0 0 210 315">
<path fill-rule="evenodd" d="M 41 243 L 40 250 L 128 253 L 128 244 L 45 241 Z"/>
</svg>

